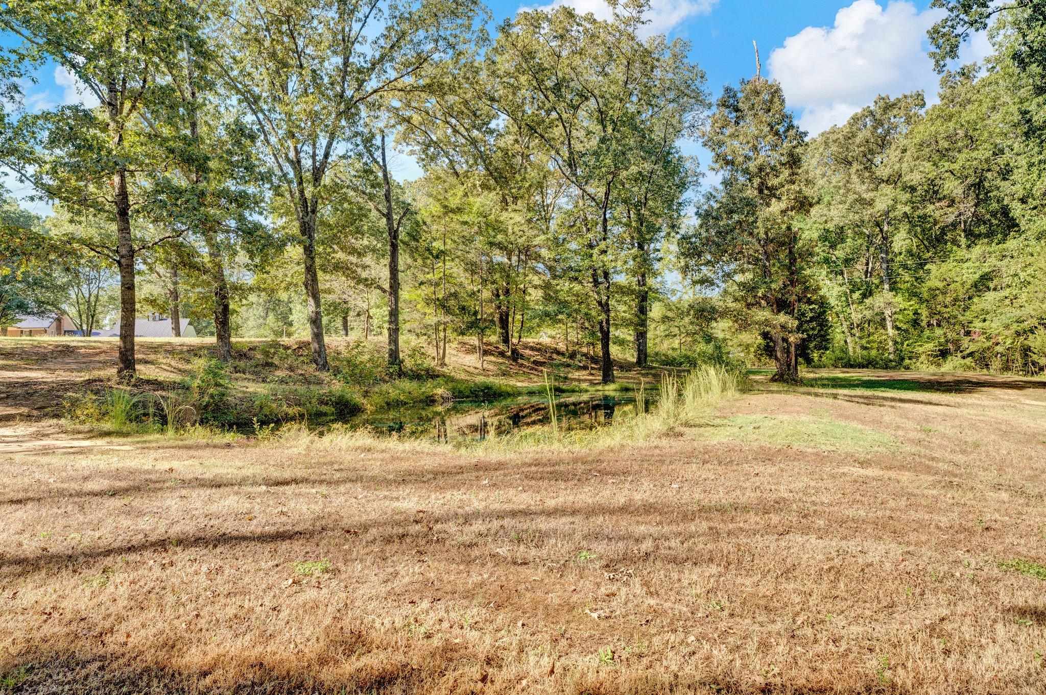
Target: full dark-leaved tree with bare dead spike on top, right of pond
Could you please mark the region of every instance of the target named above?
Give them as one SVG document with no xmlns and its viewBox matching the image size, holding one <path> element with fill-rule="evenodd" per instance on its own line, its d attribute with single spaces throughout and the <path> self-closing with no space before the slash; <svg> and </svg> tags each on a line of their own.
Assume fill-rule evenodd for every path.
<svg viewBox="0 0 1046 695">
<path fill-rule="evenodd" d="M 770 338 L 773 378 L 796 381 L 800 304 L 814 292 L 806 277 L 812 249 L 802 233 L 812 204 L 802 170 L 805 134 L 780 86 L 755 77 L 724 88 L 703 135 L 723 182 L 705 195 L 698 224 L 681 238 L 685 267 L 699 281 L 730 283 L 742 322 Z"/>
</svg>

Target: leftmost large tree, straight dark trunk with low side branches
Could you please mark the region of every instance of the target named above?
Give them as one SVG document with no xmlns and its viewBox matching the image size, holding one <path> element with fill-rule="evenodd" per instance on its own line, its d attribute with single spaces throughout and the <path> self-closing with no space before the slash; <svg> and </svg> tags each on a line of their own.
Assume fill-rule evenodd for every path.
<svg viewBox="0 0 1046 695">
<path fill-rule="evenodd" d="M 4 133 L 0 161 L 45 196 L 113 221 L 105 244 L 97 237 L 75 241 L 119 268 L 117 374 L 133 377 L 135 258 L 165 237 L 136 237 L 132 216 L 162 196 L 179 196 L 162 164 L 172 158 L 170 143 L 146 124 L 151 110 L 169 97 L 157 80 L 162 62 L 198 40 L 195 13 L 183 3 L 152 0 L 12 0 L 0 7 L 0 26 L 24 40 L 24 60 L 54 61 L 100 102 L 94 110 L 65 106 L 22 116 Z"/>
</svg>

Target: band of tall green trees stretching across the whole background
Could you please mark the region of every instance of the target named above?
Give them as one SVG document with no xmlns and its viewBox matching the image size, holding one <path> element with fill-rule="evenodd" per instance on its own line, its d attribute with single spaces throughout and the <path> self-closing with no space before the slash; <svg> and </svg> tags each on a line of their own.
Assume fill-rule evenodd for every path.
<svg viewBox="0 0 1046 695">
<path fill-rule="evenodd" d="M 118 318 L 124 375 L 146 311 L 225 360 L 308 338 L 320 370 L 331 335 L 393 368 L 407 343 L 554 341 L 604 383 L 614 360 L 1046 370 L 1046 0 L 934 0 L 939 93 L 813 138 L 757 59 L 710 94 L 645 0 L 611 4 L 495 27 L 478 0 L 3 3 L 0 164 L 53 212 L 4 199 L 0 326 Z M 84 103 L 22 103 L 50 64 Z"/>
</svg>

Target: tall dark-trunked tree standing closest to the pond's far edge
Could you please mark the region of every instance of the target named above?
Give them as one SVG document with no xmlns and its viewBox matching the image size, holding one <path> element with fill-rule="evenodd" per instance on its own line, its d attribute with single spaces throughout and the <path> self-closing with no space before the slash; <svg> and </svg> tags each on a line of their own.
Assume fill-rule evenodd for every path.
<svg viewBox="0 0 1046 695">
<path fill-rule="evenodd" d="M 600 377 L 614 380 L 611 360 L 613 278 L 623 260 L 619 188 L 637 155 L 636 134 L 657 105 L 690 113 L 702 102 L 704 75 L 685 59 L 687 45 L 642 42 L 644 0 L 611 3 L 600 22 L 569 7 L 523 11 L 506 23 L 488 60 L 498 68 L 498 109 L 542 142 L 572 186 L 575 251 L 599 310 Z M 583 239 L 583 240 L 582 240 Z"/>
</svg>

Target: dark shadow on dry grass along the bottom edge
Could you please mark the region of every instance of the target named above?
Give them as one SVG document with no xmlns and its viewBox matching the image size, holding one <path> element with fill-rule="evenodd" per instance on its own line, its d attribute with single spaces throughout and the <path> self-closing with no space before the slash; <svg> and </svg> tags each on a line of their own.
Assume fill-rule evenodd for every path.
<svg viewBox="0 0 1046 695">
<path fill-rule="evenodd" d="M 613 673 L 591 672 L 589 669 L 563 666 L 554 675 L 547 674 L 544 664 L 538 666 L 530 677 L 530 690 L 520 690 L 518 672 L 508 669 L 499 673 L 500 659 L 481 657 L 463 647 L 448 645 L 428 646 L 411 652 L 396 653 L 385 645 L 357 645 L 351 656 L 356 666 L 345 669 L 344 675 L 317 677 L 311 671 L 320 664 L 337 661 L 338 644 L 323 645 L 327 651 L 312 664 L 297 668 L 277 668 L 265 662 L 229 665 L 235 670 L 220 687 L 208 684 L 213 675 L 210 669 L 178 670 L 169 667 L 134 664 L 131 654 L 123 658 L 100 654 L 58 655 L 40 654 L 29 659 L 19 659 L 10 669 L 0 671 L 0 677 L 12 678 L 17 685 L 10 692 L 25 694 L 63 693 L 66 695 L 94 695 L 95 693 L 147 693 L 149 695 L 175 695 L 196 693 L 211 695 L 380 695 L 382 693 L 448 692 L 447 684 L 455 684 L 452 692 L 501 695 L 520 692 L 562 692 L 584 695 L 624 695 L 626 693 L 724 693 L 731 695 L 778 693 L 805 693 L 809 695 L 863 695 L 893 693 L 908 695 L 910 689 L 890 684 L 871 674 L 851 676 L 849 684 L 809 682 L 803 679 L 758 685 L 747 679 L 736 680 L 730 674 L 700 669 L 699 672 L 663 673 L 656 668 Z M 388 658 L 374 663 L 379 653 Z M 369 663 L 361 663 L 363 657 Z M 344 666 L 344 665 L 341 665 Z M 231 669 L 230 669 L 231 670 Z M 587 672 L 586 672 L 587 671 Z M 704 672 L 700 672 L 704 671 Z M 224 675 L 224 674 L 223 674 Z M 524 680 L 524 684 L 527 681 Z M 0 685 L 0 692 L 3 686 Z"/>
</svg>

